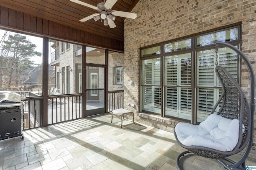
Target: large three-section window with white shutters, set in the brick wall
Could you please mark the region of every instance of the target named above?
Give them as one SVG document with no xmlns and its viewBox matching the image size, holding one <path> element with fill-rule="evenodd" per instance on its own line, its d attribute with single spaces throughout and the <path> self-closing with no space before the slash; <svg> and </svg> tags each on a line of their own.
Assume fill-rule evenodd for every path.
<svg viewBox="0 0 256 170">
<path fill-rule="evenodd" d="M 141 111 L 200 123 L 222 93 L 214 69 L 217 62 L 239 82 L 240 59 L 228 47 L 239 47 L 240 25 L 146 47 L 140 50 Z M 161 50 L 163 49 L 163 50 Z"/>
</svg>

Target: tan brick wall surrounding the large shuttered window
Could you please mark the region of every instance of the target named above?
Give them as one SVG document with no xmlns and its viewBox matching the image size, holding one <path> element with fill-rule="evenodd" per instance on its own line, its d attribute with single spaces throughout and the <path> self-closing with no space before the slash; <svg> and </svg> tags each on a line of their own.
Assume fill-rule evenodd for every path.
<svg viewBox="0 0 256 170">
<path fill-rule="evenodd" d="M 256 70 L 256 2 L 254 0 L 140 0 L 124 27 L 124 108 L 139 111 L 139 48 L 175 38 L 242 23 L 242 52 Z M 246 66 L 242 88 L 250 94 Z M 131 85 L 130 81 L 134 83 Z M 130 107 L 134 104 L 134 107 Z M 255 123 L 254 123 L 255 124 Z M 256 125 L 254 125 L 256 127 Z M 256 135 L 256 131 L 254 131 Z M 256 158 L 256 137 L 250 152 Z"/>
</svg>

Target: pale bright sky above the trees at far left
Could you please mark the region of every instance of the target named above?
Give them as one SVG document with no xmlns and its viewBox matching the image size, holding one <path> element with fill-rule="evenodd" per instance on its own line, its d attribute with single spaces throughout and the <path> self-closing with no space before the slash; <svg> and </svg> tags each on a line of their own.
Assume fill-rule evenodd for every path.
<svg viewBox="0 0 256 170">
<path fill-rule="evenodd" d="M 2 36 L 4 35 L 5 32 L 6 32 L 6 30 L 0 29 L 0 38 L 2 38 Z M 16 33 L 16 32 L 11 32 L 11 31 L 8 31 L 8 32 L 12 33 L 13 35 Z M 19 34 L 26 36 L 27 40 L 30 40 L 31 43 L 36 45 L 35 51 L 43 53 L 43 39 L 41 37 L 30 36 L 30 35 L 26 35 L 26 34 L 22 34 L 22 33 L 19 33 Z M 31 57 L 30 60 L 34 61 L 35 64 L 41 64 L 42 56 L 41 57 Z"/>
</svg>

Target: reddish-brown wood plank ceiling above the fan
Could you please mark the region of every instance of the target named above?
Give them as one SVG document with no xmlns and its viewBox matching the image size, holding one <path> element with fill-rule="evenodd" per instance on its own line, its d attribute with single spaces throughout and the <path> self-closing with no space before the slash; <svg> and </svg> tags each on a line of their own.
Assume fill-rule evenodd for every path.
<svg viewBox="0 0 256 170">
<path fill-rule="evenodd" d="M 80 0 L 93 6 L 104 0 Z M 139 0 L 118 0 L 112 10 L 130 12 Z M 92 8 L 71 2 L 70 0 L 0 0 L 0 6 L 10 8 L 31 16 L 67 25 L 76 29 L 124 41 L 124 19 L 116 17 L 115 28 L 103 25 L 100 20 L 86 22 L 79 20 L 91 14 L 98 13 Z M 132 20 L 132 19 L 128 19 Z"/>
</svg>

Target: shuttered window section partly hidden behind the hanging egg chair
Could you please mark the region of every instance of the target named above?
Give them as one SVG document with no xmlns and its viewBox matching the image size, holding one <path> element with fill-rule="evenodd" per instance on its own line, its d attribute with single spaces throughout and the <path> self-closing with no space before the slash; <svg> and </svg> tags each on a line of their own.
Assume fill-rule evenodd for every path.
<svg viewBox="0 0 256 170">
<path fill-rule="evenodd" d="M 214 72 L 216 67 L 215 49 L 198 51 L 197 55 L 197 119 L 201 122 L 208 117 L 219 99 L 221 85 Z M 219 48 L 217 63 L 226 68 L 235 79 L 237 78 L 238 55 L 232 49 Z"/>
</svg>

